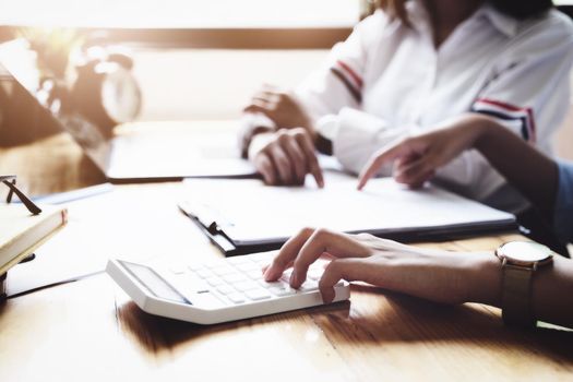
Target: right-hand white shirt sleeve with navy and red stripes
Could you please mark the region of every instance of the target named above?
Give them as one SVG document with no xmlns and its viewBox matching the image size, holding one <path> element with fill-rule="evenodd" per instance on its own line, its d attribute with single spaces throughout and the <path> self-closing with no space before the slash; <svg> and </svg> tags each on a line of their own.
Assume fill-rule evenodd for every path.
<svg viewBox="0 0 573 382">
<path fill-rule="evenodd" d="M 566 27 L 537 27 L 532 26 L 502 55 L 471 111 L 498 119 L 525 141 L 549 151 L 569 107 L 570 84 L 563 79 L 569 77 L 573 61 L 573 35 Z"/>
</svg>

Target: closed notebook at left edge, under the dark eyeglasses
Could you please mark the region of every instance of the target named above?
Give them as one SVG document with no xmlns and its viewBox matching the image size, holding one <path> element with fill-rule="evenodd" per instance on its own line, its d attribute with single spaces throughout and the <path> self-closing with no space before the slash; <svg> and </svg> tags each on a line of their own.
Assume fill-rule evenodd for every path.
<svg viewBox="0 0 573 382">
<path fill-rule="evenodd" d="M 43 205 L 32 215 L 22 204 L 0 204 L 0 275 L 33 253 L 65 225 L 65 208 Z"/>
</svg>

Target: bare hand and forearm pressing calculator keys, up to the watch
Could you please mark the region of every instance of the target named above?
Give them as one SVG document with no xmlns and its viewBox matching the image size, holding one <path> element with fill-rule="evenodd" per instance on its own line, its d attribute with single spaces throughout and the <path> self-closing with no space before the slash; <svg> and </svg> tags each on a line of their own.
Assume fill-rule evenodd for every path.
<svg viewBox="0 0 573 382">
<path fill-rule="evenodd" d="M 264 278 L 273 282 L 293 267 L 289 284 L 298 288 L 308 279 L 309 266 L 324 255 L 333 259 L 319 280 L 324 303 L 333 300 L 333 286 L 341 279 L 360 280 L 441 303 L 462 303 L 482 299 L 485 280 L 496 284 L 499 276 L 499 261 L 490 252 L 461 254 L 367 234 L 306 228 L 283 246 Z"/>
</svg>

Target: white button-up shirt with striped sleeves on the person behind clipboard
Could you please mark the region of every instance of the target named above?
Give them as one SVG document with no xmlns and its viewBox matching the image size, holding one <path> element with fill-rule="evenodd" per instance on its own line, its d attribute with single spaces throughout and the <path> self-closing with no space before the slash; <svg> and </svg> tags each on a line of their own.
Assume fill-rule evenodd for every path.
<svg viewBox="0 0 573 382">
<path fill-rule="evenodd" d="M 383 11 L 367 17 L 296 89 L 345 168 L 359 172 L 397 138 L 469 111 L 498 118 L 551 154 L 570 100 L 568 16 L 552 10 L 517 21 L 486 3 L 435 49 L 421 1 L 408 1 L 407 11 L 411 26 Z M 503 210 L 526 205 L 475 151 L 441 168 L 437 180 Z"/>
</svg>

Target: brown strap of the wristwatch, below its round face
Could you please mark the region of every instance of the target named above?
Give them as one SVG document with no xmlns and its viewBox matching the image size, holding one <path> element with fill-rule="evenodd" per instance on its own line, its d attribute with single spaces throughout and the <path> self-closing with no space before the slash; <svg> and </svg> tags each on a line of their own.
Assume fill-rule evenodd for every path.
<svg viewBox="0 0 573 382">
<path fill-rule="evenodd" d="M 509 325 L 532 327 L 537 320 L 532 309 L 532 278 L 534 270 L 503 264 L 502 318 Z"/>
</svg>

